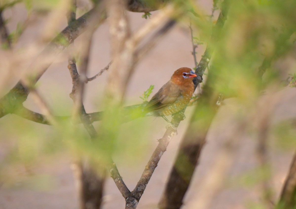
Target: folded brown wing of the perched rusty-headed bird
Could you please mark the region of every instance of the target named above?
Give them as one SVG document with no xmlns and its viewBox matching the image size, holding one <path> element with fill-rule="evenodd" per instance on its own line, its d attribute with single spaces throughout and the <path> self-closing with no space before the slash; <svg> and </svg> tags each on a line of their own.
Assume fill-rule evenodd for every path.
<svg viewBox="0 0 296 209">
<path fill-rule="evenodd" d="M 181 89 L 177 84 L 168 81 L 159 91 L 151 98 L 146 105 L 148 111 L 159 110 L 175 102 L 181 96 Z"/>
</svg>

